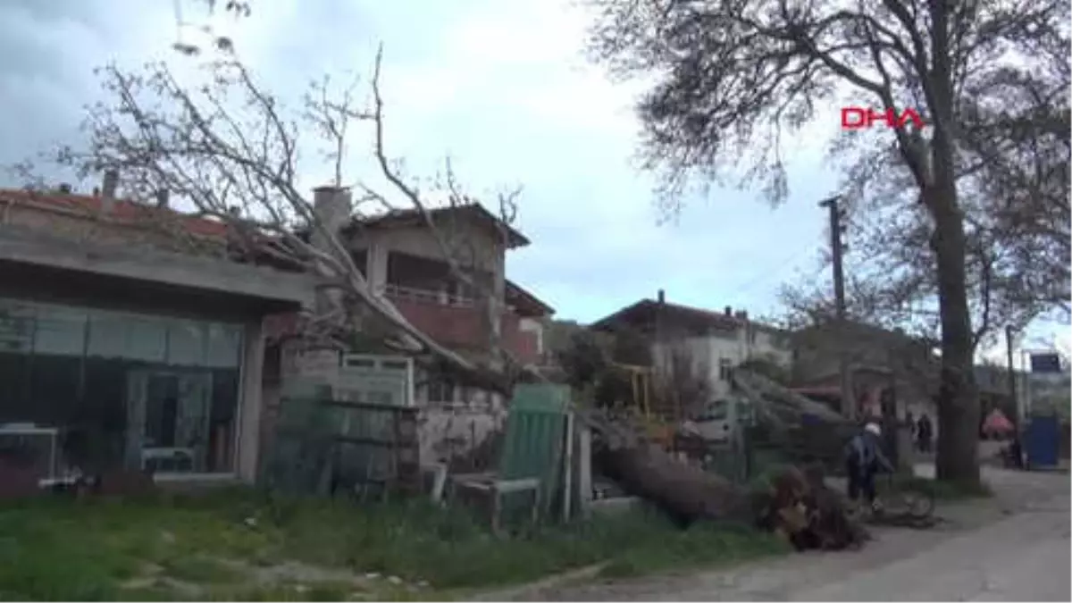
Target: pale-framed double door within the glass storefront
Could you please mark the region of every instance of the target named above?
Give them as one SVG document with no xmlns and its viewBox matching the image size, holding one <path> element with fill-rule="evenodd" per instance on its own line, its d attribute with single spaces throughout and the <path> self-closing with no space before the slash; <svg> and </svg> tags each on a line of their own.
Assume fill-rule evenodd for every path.
<svg viewBox="0 0 1072 603">
<path fill-rule="evenodd" d="M 212 374 L 137 369 L 126 376 L 126 468 L 203 472 L 209 454 Z"/>
</svg>

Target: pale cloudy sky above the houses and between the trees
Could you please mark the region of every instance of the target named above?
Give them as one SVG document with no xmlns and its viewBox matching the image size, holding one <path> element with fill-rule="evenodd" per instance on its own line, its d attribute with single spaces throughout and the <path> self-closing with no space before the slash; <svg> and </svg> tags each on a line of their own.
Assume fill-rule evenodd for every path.
<svg viewBox="0 0 1072 603">
<path fill-rule="evenodd" d="M 198 0 L 180 9 L 209 23 Z M 594 321 L 659 289 L 669 302 L 773 315 L 783 282 L 825 277 L 817 202 L 836 187 L 823 161 L 835 116 L 790 143 L 786 204 L 716 188 L 660 224 L 653 178 L 634 160 L 640 85 L 586 62 L 587 19 L 572 0 L 255 0 L 249 18 L 210 23 L 281 93 L 325 73 L 367 74 L 382 43 L 388 152 L 428 175 L 450 157 L 477 196 L 521 185 L 516 225 L 533 242 L 510 253 L 508 278 L 557 318 Z M 200 41 L 172 0 L 2 0 L 0 27 L 0 164 L 76 139 L 100 98 L 93 68 L 181 61 L 173 44 Z M 368 144 L 354 142 L 355 161 Z M 328 176 L 314 165 L 306 180 Z M 1069 327 L 1037 330 L 1072 343 Z"/>
</svg>

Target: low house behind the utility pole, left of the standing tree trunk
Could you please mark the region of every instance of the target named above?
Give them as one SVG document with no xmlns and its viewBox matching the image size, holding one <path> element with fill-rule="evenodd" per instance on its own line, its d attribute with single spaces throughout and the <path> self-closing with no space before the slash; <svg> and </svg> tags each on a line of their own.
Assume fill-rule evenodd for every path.
<svg viewBox="0 0 1072 603">
<path fill-rule="evenodd" d="M 935 416 L 937 363 L 930 342 L 855 321 L 798 329 L 791 341 L 796 392 L 840 409 L 844 361 L 857 416 L 880 415 L 883 399 L 895 402 L 897 416 Z"/>
</svg>

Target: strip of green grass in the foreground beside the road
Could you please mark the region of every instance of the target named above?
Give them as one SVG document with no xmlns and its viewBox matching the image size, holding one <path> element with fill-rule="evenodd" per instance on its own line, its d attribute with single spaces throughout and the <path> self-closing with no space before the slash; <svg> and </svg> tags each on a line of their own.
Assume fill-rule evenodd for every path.
<svg viewBox="0 0 1072 603">
<path fill-rule="evenodd" d="M 154 603 L 174 600 L 174 589 L 151 586 L 169 580 L 200 588 L 198 601 L 330 602 L 355 588 L 353 579 L 332 584 L 340 572 L 325 577 L 330 569 L 345 569 L 342 575 L 349 578 L 374 572 L 461 589 L 523 583 L 595 563 L 606 563 L 605 575 L 624 576 L 783 550 L 784 543 L 769 534 L 726 526 L 682 531 L 641 511 L 502 540 L 462 511 L 422 501 L 357 506 L 269 501 L 250 491 L 196 499 L 46 498 L 0 505 L 0 601 Z M 293 585 L 251 577 L 291 561 L 322 574 L 312 580 L 318 584 L 298 592 Z M 120 588 L 135 579 L 149 586 Z M 385 601 L 418 597 L 394 587 L 376 594 Z"/>
</svg>

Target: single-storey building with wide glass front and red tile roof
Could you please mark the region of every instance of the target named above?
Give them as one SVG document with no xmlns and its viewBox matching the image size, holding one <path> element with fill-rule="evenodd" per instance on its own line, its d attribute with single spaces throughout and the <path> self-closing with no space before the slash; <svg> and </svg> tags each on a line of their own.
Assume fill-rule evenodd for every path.
<svg viewBox="0 0 1072 603">
<path fill-rule="evenodd" d="M 51 475 L 253 481 L 264 320 L 316 282 L 229 260 L 223 223 L 117 198 L 117 181 L 0 191 L 0 448 L 38 442 Z"/>
</svg>

